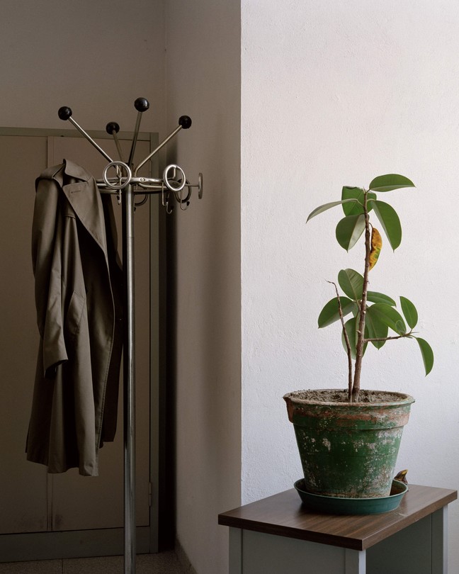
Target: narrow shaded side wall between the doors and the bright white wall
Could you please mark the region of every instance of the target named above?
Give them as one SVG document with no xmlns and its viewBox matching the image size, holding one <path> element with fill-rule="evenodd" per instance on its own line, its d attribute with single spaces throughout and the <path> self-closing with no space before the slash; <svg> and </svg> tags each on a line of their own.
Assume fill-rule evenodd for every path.
<svg viewBox="0 0 459 574">
<path fill-rule="evenodd" d="M 217 515 L 241 490 L 240 3 L 166 4 L 169 161 L 204 196 L 176 210 L 177 537 L 198 574 L 227 572 Z"/>
</svg>

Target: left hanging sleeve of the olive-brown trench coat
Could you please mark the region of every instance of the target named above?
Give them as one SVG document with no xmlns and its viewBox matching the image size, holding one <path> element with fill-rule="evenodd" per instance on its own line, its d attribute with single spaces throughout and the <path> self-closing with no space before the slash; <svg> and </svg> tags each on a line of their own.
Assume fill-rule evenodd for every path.
<svg viewBox="0 0 459 574">
<path fill-rule="evenodd" d="M 59 197 L 60 190 L 55 181 L 38 180 L 32 224 L 32 263 L 37 324 L 42 339 L 46 378 L 54 378 L 57 365 L 67 360 L 62 313 L 62 217 Z"/>
</svg>

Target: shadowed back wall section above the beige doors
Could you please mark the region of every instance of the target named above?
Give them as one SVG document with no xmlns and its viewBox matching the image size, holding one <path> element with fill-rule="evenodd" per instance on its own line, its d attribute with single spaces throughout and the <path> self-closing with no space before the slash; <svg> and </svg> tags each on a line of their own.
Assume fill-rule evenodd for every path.
<svg viewBox="0 0 459 574">
<path fill-rule="evenodd" d="M 1 3 L 0 125 L 86 130 L 117 121 L 132 131 L 139 96 L 142 130 L 164 132 L 163 0 L 4 0 Z"/>
</svg>

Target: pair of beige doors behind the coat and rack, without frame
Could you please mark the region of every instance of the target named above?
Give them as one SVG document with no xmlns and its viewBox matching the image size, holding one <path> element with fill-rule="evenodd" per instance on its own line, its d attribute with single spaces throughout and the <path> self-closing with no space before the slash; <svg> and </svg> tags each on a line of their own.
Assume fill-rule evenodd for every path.
<svg viewBox="0 0 459 574">
<path fill-rule="evenodd" d="M 67 130 L 66 130 L 67 131 Z M 97 140 L 103 150 L 118 159 L 113 140 Z M 121 141 L 128 157 L 130 140 Z M 150 141 L 139 140 L 136 160 L 150 150 Z M 44 466 L 26 461 L 24 447 L 33 392 L 38 330 L 33 300 L 30 230 L 35 178 L 44 167 L 72 159 L 100 178 L 108 163 L 97 150 L 77 135 L 0 136 L 0 154 L 6 169 L 0 174 L 4 207 L 0 213 L 0 289 L 3 319 L 0 322 L 0 561 L 52 558 L 95 553 L 122 553 L 123 528 L 123 393 L 120 389 L 118 429 L 113 443 L 101 449 L 99 476 L 84 477 L 77 469 L 47 474 Z M 149 175 L 149 164 L 142 175 Z M 140 549 L 151 551 L 152 514 L 150 476 L 150 202 L 135 210 L 135 325 L 136 325 L 136 518 L 143 532 Z M 120 208 L 113 196 L 121 248 Z M 155 247 L 153 246 L 153 249 Z M 122 381 L 120 381 L 122 385 Z M 29 534 L 26 533 L 40 533 Z M 13 535 L 15 544 L 11 546 Z M 43 536 L 55 534 L 56 536 Z M 23 548 L 11 551 L 11 548 Z M 59 540 L 56 547 L 56 541 Z M 91 540 L 91 543 L 84 541 Z M 94 550 L 99 540 L 100 551 Z M 145 544 L 142 543 L 145 541 Z M 15 546 L 16 545 L 16 546 Z M 139 546 L 139 542 L 137 543 Z M 38 550 L 41 548 L 41 550 Z M 43 555 L 45 552 L 45 555 Z"/>
</svg>

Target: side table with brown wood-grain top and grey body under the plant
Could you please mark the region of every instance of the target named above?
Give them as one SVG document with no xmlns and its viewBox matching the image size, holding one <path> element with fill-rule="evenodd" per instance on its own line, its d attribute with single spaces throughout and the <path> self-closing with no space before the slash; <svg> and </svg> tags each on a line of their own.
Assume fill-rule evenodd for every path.
<svg viewBox="0 0 459 574">
<path fill-rule="evenodd" d="M 410 484 L 392 512 L 336 516 L 285 490 L 219 514 L 229 574 L 447 574 L 448 504 L 457 497 Z"/>
</svg>

